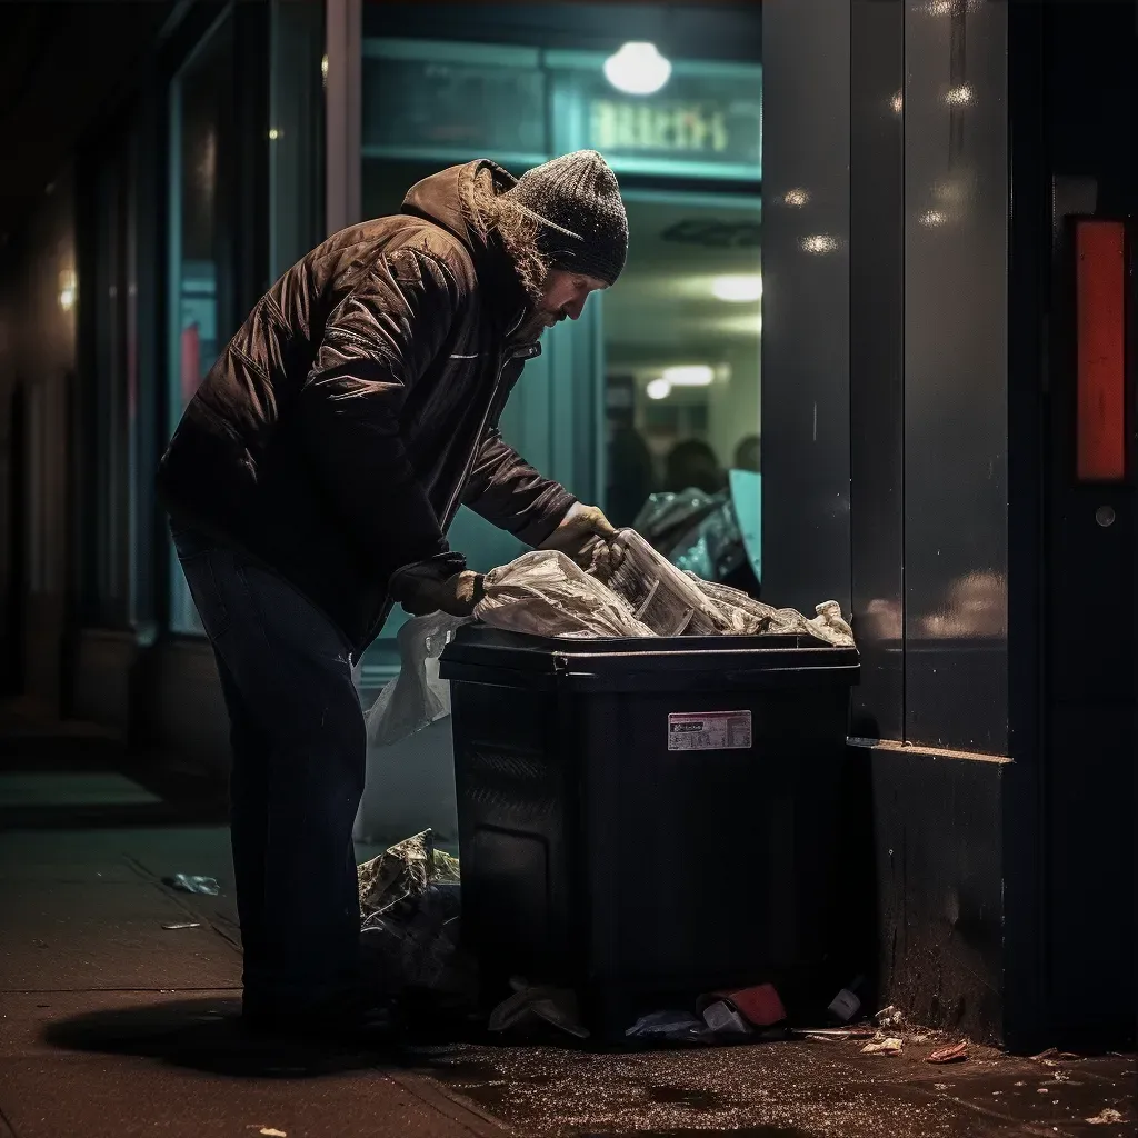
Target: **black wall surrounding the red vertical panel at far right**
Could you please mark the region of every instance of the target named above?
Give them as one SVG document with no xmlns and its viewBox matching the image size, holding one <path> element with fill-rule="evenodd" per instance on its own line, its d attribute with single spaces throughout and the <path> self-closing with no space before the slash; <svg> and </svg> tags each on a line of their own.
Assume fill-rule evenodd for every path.
<svg viewBox="0 0 1138 1138">
<path fill-rule="evenodd" d="M 1044 609 L 1047 981 L 1056 1023 L 1074 1042 L 1133 1026 L 1135 1007 L 1135 478 L 1138 448 L 1138 155 L 1120 145 L 1138 122 L 1138 19 L 1132 6 L 1048 8 L 1046 147 L 1055 256 L 1045 264 L 1048 318 L 1047 603 Z M 1073 257 L 1063 215 L 1130 221 L 1127 477 L 1077 477 Z M 1113 521 L 1100 525 L 1108 508 Z M 1128 611 L 1114 621 L 1112 613 Z M 1092 932 L 1091 930 L 1098 930 Z"/>
</svg>

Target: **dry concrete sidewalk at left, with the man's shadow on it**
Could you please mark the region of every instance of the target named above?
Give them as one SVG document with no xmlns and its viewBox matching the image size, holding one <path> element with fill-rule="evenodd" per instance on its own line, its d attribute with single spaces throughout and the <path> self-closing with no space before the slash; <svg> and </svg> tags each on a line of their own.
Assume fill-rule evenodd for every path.
<svg viewBox="0 0 1138 1138">
<path fill-rule="evenodd" d="M 0 1138 L 503 1132 L 398 1056 L 251 1042 L 222 803 L 121 760 L 74 729 L 0 748 Z"/>
</svg>

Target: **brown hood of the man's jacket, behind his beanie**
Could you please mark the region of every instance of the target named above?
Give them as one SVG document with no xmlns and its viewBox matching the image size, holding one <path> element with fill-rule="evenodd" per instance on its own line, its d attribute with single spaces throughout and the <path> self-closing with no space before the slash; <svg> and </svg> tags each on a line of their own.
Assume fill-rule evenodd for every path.
<svg viewBox="0 0 1138 1138">
<path fill-rule="evenodd" d="M 505 251 L 472 224 L 479 182 L 488 182 L 495 193 L 503 193 L 517 185 L 518 179 L 486 158 L 448 166 L 415 182 L 403 199 L 403 212 L 424 217 L 462 241 L 473 257 L 479 283 L 493 290 L 495 307 L 509 320 L 526 307 L 526 292 Z"/>
</svg>

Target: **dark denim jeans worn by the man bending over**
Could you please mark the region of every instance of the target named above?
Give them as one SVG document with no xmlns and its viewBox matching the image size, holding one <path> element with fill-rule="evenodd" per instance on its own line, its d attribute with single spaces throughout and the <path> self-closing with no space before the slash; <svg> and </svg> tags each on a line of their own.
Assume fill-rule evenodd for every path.
<svg viewBox="0 0 1138 1138">
<path fill-rule="evenodd" d="M 281 578 L 175 527 L 229 710 L 246 1006 L 335 999 L 357 981 L 352 828 L 366 728 L 351 648 Z"/>
</svg>

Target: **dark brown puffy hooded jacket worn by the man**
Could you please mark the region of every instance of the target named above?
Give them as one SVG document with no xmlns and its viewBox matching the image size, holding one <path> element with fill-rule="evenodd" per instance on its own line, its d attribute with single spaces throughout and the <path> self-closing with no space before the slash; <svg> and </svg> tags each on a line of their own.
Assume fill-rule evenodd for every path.
<svg viewBox="0 0 1138 1138">
<path fill-rule="evenodd" d="M 158 471 L 178 525 L 280 574 L 362 651 L 398 569 L 446 558 L 461 503 L 530 545 L 574 498 L 502 442 L 536 344 L 525 292 L 468 224 L 488 162 L 419 182 L 403 212 L 329 238 L 258 302 L 185 409 Z"/>
</svg>

